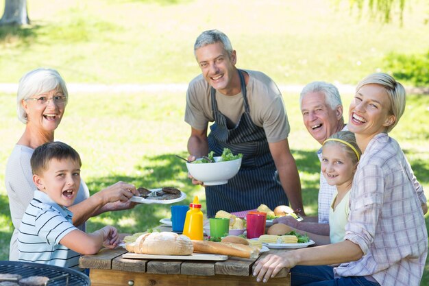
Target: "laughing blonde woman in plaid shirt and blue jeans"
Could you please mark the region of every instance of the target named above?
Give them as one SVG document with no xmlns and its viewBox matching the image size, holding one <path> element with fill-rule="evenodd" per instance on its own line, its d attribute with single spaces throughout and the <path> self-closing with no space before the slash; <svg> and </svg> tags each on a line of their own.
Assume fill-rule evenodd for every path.
<svg viewBox="0 0 429 286">
<path fill-rule="evenodd" d="M 404 108 L 404 87 L 390 75 L 374 73 L 358 84 L 348 127 L 363 155 L 345 240 L 268 255 L 256 265 L 257 281 L 293 267 L 292 285 L 419 285 L 428 254 L 426 197 L 400 145 L 388 135 Z M 334 263 L 342 264 L 328 266 Z"/>
</svg>

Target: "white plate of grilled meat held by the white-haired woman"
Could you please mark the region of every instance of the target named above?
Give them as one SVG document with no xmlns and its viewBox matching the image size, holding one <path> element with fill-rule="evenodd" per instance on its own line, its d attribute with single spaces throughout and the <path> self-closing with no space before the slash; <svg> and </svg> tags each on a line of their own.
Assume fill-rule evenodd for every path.
<svg viewBox="0 0 429 286">
<path fill-rule="evenodd" d="M 186 199 L 186 193 L 174 187 L 163 187 L 159 189 L 137 189 L 140 196 L 133 195 L 132 202 L 140 204 L 173 204 Z"/>
</svg>

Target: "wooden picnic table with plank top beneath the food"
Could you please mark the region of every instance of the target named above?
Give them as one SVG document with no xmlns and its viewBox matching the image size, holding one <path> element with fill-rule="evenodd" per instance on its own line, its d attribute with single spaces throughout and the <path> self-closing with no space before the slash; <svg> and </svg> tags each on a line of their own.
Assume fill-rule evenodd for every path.
<svg viewBox="0 0 429 286">
<path fill-rule="evenodd" d="M 160 226 L 162 231 L 171 228 Z M 287 250 L 263 252 L 258 259 L 269 253 Z M 119 247 L 114 250 L 103 249 L 95 255 L 84 255 L 79 259 L 79 266 L 89 268 L 91 285 L 291 285 L 291 276 L 282 270 L 268 283 L 257 283 L 252 276 L 254 263 L 258 259 L 229 257 L 225 261 L 186 261 L 161 259 L 124 259 L 127 250 Z"/>
</svg>

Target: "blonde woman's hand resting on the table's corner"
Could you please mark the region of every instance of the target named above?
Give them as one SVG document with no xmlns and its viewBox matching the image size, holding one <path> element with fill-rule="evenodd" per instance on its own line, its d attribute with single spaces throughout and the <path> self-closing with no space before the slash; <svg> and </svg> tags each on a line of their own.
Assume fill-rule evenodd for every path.
<svg viewBox="0 0 429 286">
<path fill-rule="evenodd" d="M 287 268 L 289 271 L 289 269 L 297 265 L 295 257 L 291 254 L 291 252 L 268 254 L 264 259 L 256 261 L 253 273 L 254 276 L 257 276 L 256 281 L 266 283 L 269 278 L 275 277 L 282 268 Z"/>
</svg>

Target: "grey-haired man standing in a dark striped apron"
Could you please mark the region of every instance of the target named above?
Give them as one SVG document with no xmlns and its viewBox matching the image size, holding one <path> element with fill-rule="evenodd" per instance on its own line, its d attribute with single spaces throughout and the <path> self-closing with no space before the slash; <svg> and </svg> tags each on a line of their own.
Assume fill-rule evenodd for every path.
<svg viewBox="0 0 429 286">
<path fill-rule="evenodd" d="M 220 31 L 203 32 L 194 53 L 202 73 L 186 93 L 189 159 L 210 151 L 220 156 L 225 147 L 243 154 L 236 176 L 227 184 L 206 187 L 208 217 L 219 210 L 245 211 L 260 204 L 273 209 L 291 202 L 293 209 L 303 210 L 299 175 L 287 141 L 289 122 L 278 87 L 264 73 L 236 69 L 236 51 Z M 208 122 L 213 121 L 207 136 Z"/>
</svg>

